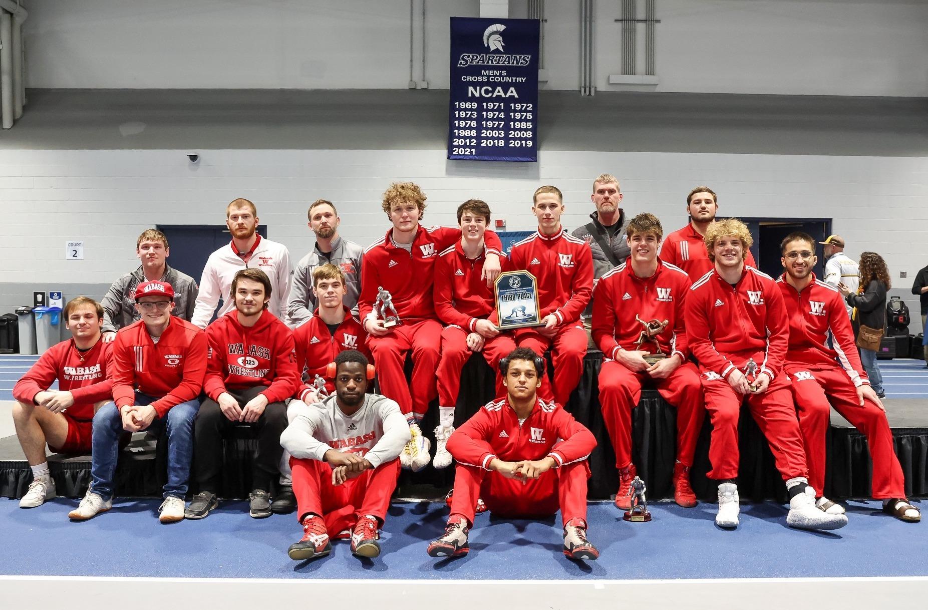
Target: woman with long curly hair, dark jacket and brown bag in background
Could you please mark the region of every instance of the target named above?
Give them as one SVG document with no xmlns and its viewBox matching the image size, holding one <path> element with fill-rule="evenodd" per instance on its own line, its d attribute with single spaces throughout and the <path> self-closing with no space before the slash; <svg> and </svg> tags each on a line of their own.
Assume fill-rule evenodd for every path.
<svg viewBox="0 0 928 610">
<path fill-rule="evenodd" d="M 847 305 L 855 308 L 851 315 L 854 322 L 854 334 L 860 333 L 860 326 L 869 326 L 877 331 L 886 327 L 886 292 L 892 287 L 889 269 L 883 256 L 875 252 L 860 254 L 860 284 L 857 292 L 851 290 L 844 281 L 838 282 L 838 290 L 844 295 Z M 876 351 L 859 347 L 860 361 L 867 371 L 870 386 L 876 396 L 884 398 L 883 375 L 876 361 Z"/>
</svg>

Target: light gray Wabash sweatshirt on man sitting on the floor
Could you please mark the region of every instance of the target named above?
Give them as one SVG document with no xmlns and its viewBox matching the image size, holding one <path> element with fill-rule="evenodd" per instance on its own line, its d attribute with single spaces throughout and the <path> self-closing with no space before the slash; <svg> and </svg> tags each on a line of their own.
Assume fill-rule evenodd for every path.
<svg viewBox="0 0 928 610">
<path fill-rule="evenodd" d="M 291 404 L 295 417 L 280 445 L 294 458 L 324 461 L 338 449 L 364 456 L 374 468 L 399 457 L 409 441 L 409 424 L 395 401 L 368 394 L 352 416 L 345 415 L 332 395 L 312 405 Z"/>
</svg>

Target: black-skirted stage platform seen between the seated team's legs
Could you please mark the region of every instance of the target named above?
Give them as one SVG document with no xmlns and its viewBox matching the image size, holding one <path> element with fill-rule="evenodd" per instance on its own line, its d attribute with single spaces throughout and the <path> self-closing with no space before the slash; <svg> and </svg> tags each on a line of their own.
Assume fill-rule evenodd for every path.
<svg viewBox="0 0 928 610">
<path fill-rule="evenodd" d="M 590 455 L 593 476 L 589 481 L 589 498 L 606 500 L 618 487 L 615 456 L 605 425 L 599 413 L 597 375 L 602 355 L 589 352 L 584 374 L 567 405 L 574 417 L 599 439 L 599 446 Z M 492 399 L 493 371 L 483 357 L 470 359 L 461 376 L 457 423 L 463 422 L 484 403 Z M 906 475 L 906 492 L 910 498 L 928 497 L 928 410 L 910 409 L 914 400 L 887 401 L 887 412 L 896 439 L 896 454 Z M 438 409 L 433 406 L 422 430 L 432 436 L 438 423 Z M 648 485 L 653 499 L 673 496 L 671 478 L 676 451 L 676 410 L 664 403 L 654 391 L 642 393 L 641 402 L 633 413 L 633 459 L 638 474 Z M 710 425 L 708 418 L 702 427 L 692 485 L 701 500 L 715 500 L 715 484 L 705 477 L 709 470 Z M 222 495 L 226 498 L 247 498 L 251 487 L 252 441 L 243 437 L 226 443 L 226 474 Z M 773 463 L 767 442 L 747 409 L 741 411 L 740 424 L 741 472 L 739 493 L 743 500 L 785 501 L 785 489 Z M 432 447 L 434 439 L 432 438 Z M 133 442 L 122 451 L 116 471 L 116 489 L 121 496 L 160 496 L 163 484 L 164 457 L 155 448 L 154 439 L 136 434 Z M 58 494 L 78 498 L 84 495 L 90 482 L 89 456 L 54 455 L 49 467 L 58 487 Z M 828 473 L 825 495 L 829 498 L 870 497 L 870 453 L 867 439 L 833 414 L 828 436 Z M 427 467 L 414 474 L 400 475 L 396 495 L 404 498 L 435 500 L 445 495 L 454 479 L 454 468 L 436 471 Z M 22 455 L 15 436 L 0 439 L 0 496 L 19 498 L 32 480 L 29 465 Z"/>
</svg>

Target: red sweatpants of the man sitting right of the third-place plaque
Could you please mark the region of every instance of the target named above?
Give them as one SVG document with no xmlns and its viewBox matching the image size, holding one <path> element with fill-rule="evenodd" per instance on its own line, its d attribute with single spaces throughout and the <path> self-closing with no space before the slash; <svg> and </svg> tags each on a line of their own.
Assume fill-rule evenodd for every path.
<svg viewBox="0 0 928 610">
<path fill-rule="evenodd" d="M 516 344 L 530 347 L 538 356 L 544 356 L 551 349 L 551 365 L 554 369 L 554 383 L 544 379 L 538 388 L 538 396 L 550 402 L 552 399 L 563 407 L 574 392 L 580 376 L 583 375 L 583 358 L 586 356 L 586 331 L 583 324 L 573 322 L 557 328 L 552 339 L 541 335 L 536 329 L 519 329 L 515 331 Z M 553 385 L 553 387 L 551 387 Z"/>
</svg>

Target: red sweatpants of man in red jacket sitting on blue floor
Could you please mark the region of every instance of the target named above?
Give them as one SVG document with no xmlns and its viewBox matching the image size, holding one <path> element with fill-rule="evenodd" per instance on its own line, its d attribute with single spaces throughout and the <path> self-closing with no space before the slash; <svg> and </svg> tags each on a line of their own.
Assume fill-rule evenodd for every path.
<svg viewBox="0 0 928 610">
<path fill-rule="evenodd" d="M 545 518 L 560 508 L 564 524 L 572 519 L 583 519 L 586 524 L 586 479 L 589 476 L 586 460 L 552 468 L 526 483 L 522 483 L 522 479 L 508 479 L 496 471 L 458 463 L 451 515 L 464 517 L 472 526 L 474 507 L 478 499 L 483 499 L 486 508 L 496 516 Z"/>
</svg>

